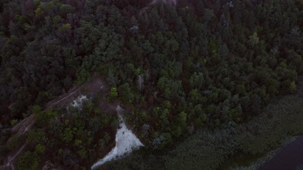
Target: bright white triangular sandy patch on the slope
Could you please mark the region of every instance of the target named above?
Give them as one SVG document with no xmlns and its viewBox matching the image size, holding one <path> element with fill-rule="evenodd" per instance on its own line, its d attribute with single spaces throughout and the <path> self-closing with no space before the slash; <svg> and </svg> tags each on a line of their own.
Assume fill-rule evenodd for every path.
<svg viewBox="0 0 303 170">
<path fill-rule="evenodd" d="M 137 150 L 139 147 L 144 146 L 140 140 L 130 130 L 126 128 L 124 120 L 120 115 L 121 108 L 118 105 L 117 113 L 120 118 L 120 129 L 117 130 L 116 134 L 116 146 L 101 160 L 91 166 L 91 169 L 96 168 L 104 164 L 107 161 L 115 160 L 122 157 L 125 154 L 131 153 L 132 150 Z"/>
</svg>

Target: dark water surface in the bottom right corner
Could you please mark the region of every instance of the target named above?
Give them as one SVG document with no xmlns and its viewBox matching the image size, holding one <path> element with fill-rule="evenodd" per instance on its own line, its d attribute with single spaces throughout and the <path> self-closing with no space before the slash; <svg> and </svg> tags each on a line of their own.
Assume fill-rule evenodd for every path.
<svg viewBox="0 0 303 170">
<path fill-rule="evenodd" d="M 282 147 L 269 162 L 259 168 L 268 169 L 303 170 L 303 135 Z"/>
</svg>

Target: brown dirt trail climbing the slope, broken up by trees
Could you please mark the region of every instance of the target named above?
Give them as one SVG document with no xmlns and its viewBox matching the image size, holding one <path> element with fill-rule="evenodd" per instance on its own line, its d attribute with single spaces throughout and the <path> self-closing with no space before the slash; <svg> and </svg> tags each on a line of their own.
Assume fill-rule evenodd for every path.
<svg viewBox="0 0 303 170">
<path fill-rule="evenodd" d="M 72 89 L 70 89 L 67 93 L 55 98 L 54 100 L 45 104 L 44 111 L 48 109 L 53 109 L 57 107 L 67 107 L 69 103 L 71 103 L 75 98 L 77 98 L 81 93 L 86 93 L 90 96 L 97 94 L 100 90 L 100 87 L 103 87 L 103 80 L 101 77 L 94 77 L 90 82 L 85 82 L 82 86 L 76 85 Z M 86 90 L 83 90 L 85 87 Z M 81 92 L 83 91 L 83 92 Z M 78 93 L 77 93 L 78 92 Z M 16 135 L 24 135 L 27 131 L 29 131 L 34 125 L 34 115 L 30 115 L 29 117 L 23 119 L 21 122 L 16 124 L 13 128 L 11 128 L 11 132 Z M 14 154 L 8 155 L 7 161 L 0 166 L 0 169 L 13 169 L 14 163 L 16 161 L 15 158 L 23 151 L 24 147 L 27 144 L 23 144 L 18 151 Z"/>
</svg>

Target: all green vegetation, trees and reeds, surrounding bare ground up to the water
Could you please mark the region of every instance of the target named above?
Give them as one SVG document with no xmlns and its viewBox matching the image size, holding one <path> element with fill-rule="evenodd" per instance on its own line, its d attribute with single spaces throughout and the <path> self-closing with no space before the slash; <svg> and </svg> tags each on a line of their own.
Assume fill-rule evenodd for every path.
<svg viewBox="0 0 303 170">
<path fill-rule="evenodd" d="M 115 145 L 117 115 L 99 100 L 126 108 L 145 145 L 109 169 L 218 169 L 235 153 L 258 155 L 303 133 L 289 125 L 302 119 L 303 1 L 149 3 L 0 2 L 0 164 L 26 142 L 16 169 L 89 168 Z M 43 109 L 95 76 L 106 81 L 102 99 Z M 33 129 L 10 132 L 31 114 Z"/>
</svg>

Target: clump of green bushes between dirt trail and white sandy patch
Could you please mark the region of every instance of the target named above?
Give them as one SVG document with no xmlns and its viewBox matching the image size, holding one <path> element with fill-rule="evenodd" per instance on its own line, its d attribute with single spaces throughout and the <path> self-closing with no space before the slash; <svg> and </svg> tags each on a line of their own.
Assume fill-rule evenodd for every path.
<svg viewBox="0 0 303 170">
<path fill-rule="evenodd" d="M 96 157 L 105 156 L 115 142 L 117 118 L 103 113 L 97 107 L 98 102 L 99 100 L 94 98 L 85 101 L 81 112 L 78 108 L 69 108 L 68 111 L 62 108 L 60 113 L 65 114 L 61 116 L 56 116 L 59 110 L 58 112 L 41 112 L 38 109 L 38 114 L 46 115 L 48 123 L 39 128 L 40 125 L 35 122 L 34 128 L 29 130 L 26 139 L 28 145 L 25 150 L 30 153 L 19 158 L 20 162 L 23 162 L 28 159 L 28 155 L 32 155 L 33 165 L 31 167 L 20 163 L 17 166 L 36 168 L 36 163 L 40 165 L 40 160 L 35 160 L 39 156 L 48 157 L 50 162 L 58 168 L 70 169 L 74 168 L 75 164 L 79 168 L 84 168 L 96 161 Z M 35 119 L 37 120 L 41 121 L 41 119 Z M 18 143 L 10 143 L 9 146 L 17 147 Z M 50 155 L 55 156 L 49 157 Z"/>
</svg>

